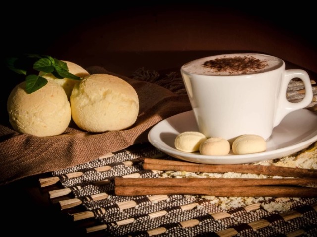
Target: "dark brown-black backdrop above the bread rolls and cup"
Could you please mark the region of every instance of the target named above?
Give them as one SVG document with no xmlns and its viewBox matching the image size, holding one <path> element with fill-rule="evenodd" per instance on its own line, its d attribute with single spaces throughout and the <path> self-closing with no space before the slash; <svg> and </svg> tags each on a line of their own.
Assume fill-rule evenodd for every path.
<svg viewBox="0 0 317 237">
<path fill-rule="evenodd" d="M 308 2 L 170 2 L 9 2 L 2 55 L 50 53 L 89 66 L 109 51 L 254 50 L 317 71 L 310 61 L 317 59 L 317 21 Z"/>
</svg>

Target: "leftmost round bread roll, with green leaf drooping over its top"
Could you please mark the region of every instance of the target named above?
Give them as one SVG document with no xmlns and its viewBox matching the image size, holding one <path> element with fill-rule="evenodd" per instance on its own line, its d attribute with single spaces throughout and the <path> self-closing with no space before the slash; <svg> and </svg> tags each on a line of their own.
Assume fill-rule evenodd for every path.
<svg viewBox="0 0 317 237">
<path fill-rule="evenodd" d="M 25 82 L 11 91 L 7 110 L 14 130 L 39 137 L 63 133 L 71 120 L 70 104 L 64 89 L 54 81 L 28 94 Z"/>
</svg>

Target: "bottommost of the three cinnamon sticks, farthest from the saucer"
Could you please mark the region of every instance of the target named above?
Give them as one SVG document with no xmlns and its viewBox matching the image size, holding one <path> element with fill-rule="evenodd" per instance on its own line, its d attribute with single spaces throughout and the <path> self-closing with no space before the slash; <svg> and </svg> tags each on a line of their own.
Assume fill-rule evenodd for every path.
<svg viewBox="0 0 317 237">
<path fill-rule="evenodd" d="M 285 186 L 254 186 L 254 187 L 179 187 L 164 186 L 115 186 L 118 196 L 142 195 L 209 195 L 219 197 L 317 197 L 317 189 L 306 187 Z"/>
</svg>

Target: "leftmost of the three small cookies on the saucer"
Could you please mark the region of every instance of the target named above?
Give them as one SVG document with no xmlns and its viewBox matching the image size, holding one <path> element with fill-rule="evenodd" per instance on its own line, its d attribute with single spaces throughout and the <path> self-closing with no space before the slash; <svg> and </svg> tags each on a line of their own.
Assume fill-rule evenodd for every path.
<svg viewBox="0 0 317 237">
<path fill-rule="evenodd" d="M 175 147 L 184 152 L 199 151 L 199 146 L 206 140 L 206 136 L 200 132 L 187 131 L 176 136 Z"/>
</svg>

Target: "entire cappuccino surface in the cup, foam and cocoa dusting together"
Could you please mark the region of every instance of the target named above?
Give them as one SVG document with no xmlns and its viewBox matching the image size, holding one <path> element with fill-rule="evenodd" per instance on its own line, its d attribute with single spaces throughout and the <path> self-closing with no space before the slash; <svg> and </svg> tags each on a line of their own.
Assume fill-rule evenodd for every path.
<svg viewBox="0 0 317 237">
<path fill-rule="evenodd" d="M 277 57 L 256 54 L 236 53 L 200 58 L 183 65 L 188 73 L 211 76 L 246 75 L 268 72 L 283 65 Z"/>
</svg>

